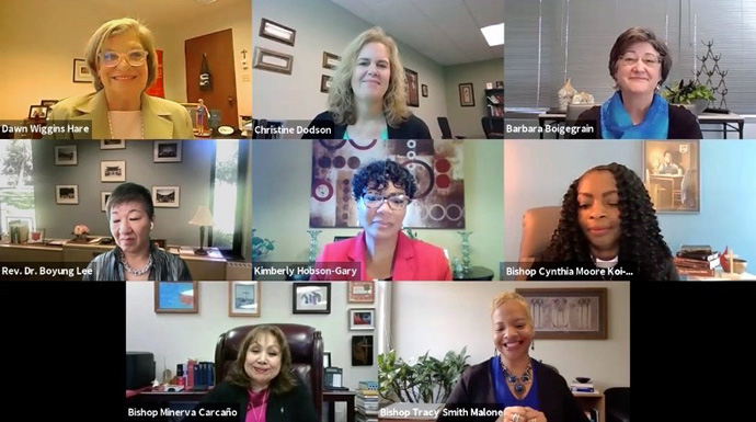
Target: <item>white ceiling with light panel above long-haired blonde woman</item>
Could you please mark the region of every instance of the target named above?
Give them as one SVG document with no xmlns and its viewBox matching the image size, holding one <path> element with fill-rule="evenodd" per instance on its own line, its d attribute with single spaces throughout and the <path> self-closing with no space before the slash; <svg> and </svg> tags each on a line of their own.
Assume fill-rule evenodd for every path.
<svg viewBox="0 0 756 422">
<path fill-rule="evenodd" d="M 504 22 L 504 0 L 331 0 L 439 65 L 504 58 L 480 28 Z"/>
</svg>

